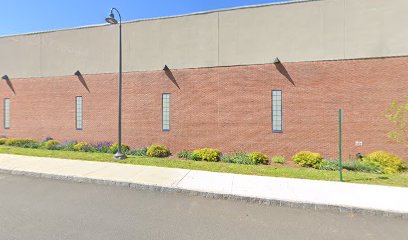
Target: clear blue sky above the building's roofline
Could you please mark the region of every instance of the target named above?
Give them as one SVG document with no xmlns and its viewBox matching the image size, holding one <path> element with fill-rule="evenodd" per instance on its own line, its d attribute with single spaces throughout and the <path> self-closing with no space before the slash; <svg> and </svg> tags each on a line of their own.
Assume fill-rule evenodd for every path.
<svg viewBox="0 0 408 240">
<path fill-rule="evenodd" d="M 0 0 L 0 36 L 104 23 L 111 7 L 123 20 L 287 0 Z"/>
</svg>

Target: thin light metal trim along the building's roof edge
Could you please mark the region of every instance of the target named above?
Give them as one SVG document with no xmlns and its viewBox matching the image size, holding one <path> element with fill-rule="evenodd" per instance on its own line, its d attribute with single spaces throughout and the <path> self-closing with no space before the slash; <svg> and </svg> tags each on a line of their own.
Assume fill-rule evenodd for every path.
<svg viewBox="0 0 408 240">
<path fill-rule="evenodd" d="M 171 19 L 171 18 L 179 18 L 179 17 L 188 17 L 188 16 L 204 15 L 204 14 L 211 14 L 211 13 L 217 13 L 217 12 L 227 12 L 227 11 L 241 10 L 241 9 L 260 8 L 260 7 L 267 7 L 267 6 L 281 6 L 281 5 L 289 5 L 289 4 L 297 4 L 297 3 L 306 3 L 306 2 L 317 2 L 317 1 L 323 1 L 323 0 L 288 0 L 287 2 L 274 2 L 274 3 L 264 3 L 264 4 L 255 4 L 255 5 L 247 5 L 247 6 L 240 6 L 240 7 L 232 7 L 232 8 L 220 8 L 220 9 L 215 9 L 215 10 L 192 12 L 192 13 L 172 15 L 172 16 L 163 16 L 163 17 L 155 17 L 155 18 L 129 20 L 129 21 L 122 22 L 122 24 L 145 22 L 145 21 L 155 21 L 155 20 L 163 20 L 163 19 Z M 0 39 L 1 38 L 27 36 L 27 35 L 45 34 L 45 33 L 52 33 L 52 32 L 79 30 L 79 29 L 84 29 L 84 28 L 96 28 L 96 27 L 102 27 L 102 26 L 106 26 L 106 25 L 109 25 L 109 24 L 108 23 L 91 24 L 91 25 L 71 27 L 71 28 L 61 28 L 61 29 L 53 29 L 53 30 L 45 30 L 45 31 L 10 34 L 10 35 L 0 36 Z"/>
</svg>

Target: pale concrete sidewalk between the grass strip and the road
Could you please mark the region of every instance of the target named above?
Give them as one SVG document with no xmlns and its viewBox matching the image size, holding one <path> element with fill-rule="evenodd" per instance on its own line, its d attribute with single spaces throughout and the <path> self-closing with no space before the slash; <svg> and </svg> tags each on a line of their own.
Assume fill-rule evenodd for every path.
<svg viewBox="0 0 408 240">
<path fill-rule="evenodd" d="M 0 172 L 408 217 L 408 188 L 0 154 Z"/>
</svg>

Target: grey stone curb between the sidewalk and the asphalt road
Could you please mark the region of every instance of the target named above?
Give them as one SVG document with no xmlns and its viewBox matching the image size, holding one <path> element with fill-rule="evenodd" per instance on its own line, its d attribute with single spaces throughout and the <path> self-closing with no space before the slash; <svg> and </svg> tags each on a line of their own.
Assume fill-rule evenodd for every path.
<svg viewBox="0 0 408 240">
<path fill-rule="evenodd" d="M 119 181 L 113 181 L 113 180 L 94 179 L 94 178 L 78 177 L 78 176 L 56 175 L 56 174 L 10 170 L 10 169 L 1 169 L 1 168 L 0 168 L 0 173 L 10 174 L 10 175 L 30 176 L 30 177 L 36 177 L 36 178 L 47 178 L 47 179 L 70 181 L 70 182 L 77 182 L 77 183 L 92 183 L 92 184 L 99 184 L 99 185 L 118 186 L 118 187 L 125 187 L 125 188 L 143 190 L 143 191 L 147 190 L 147 191 L 156 191 L 156 192 L 163 192 L 163 193 L 181 193 L 181 194 L 185 194 L 189 196 L 200 196 L 200 197 L 205 197 L 209 199 L 243 201 L 243 202 L 260 204 L 260 205 L 268 205 L 268 206 L 280 206 L 280 207 L 290 207 L 290 208 L 299 208 L 299 209 L 310 209 L 310 210 L 315 210 L 315 211 L 331 211 L 331 212 L 340 212 L 340 213 L 349 213 L 349 214 L 358 214 L 358 215 L 383 216 L 383 217 L 408 219 L 408 213 L 383 211 L 383 210 L 376 210 L 376 209 L 365 209 L 365 208 L 345 207 L 345 206 L 316 204 L 316 203 L 292 202 L 292 201 L 258 198 L 258 197 L 245 197 L 245 196 L 234 195 L 234 194 L 221 194 L 221 193 L 214 193 L 214 192 L 203 192 L 203 191 L 181 189 L 177 187 L 163 187 L 163 186 L 158 186 L 158 185 L 148 185 L 148 184 L 140 184 L 140 183 L 132 183 L 132 182 L 119 182 Z"/>
</svg>

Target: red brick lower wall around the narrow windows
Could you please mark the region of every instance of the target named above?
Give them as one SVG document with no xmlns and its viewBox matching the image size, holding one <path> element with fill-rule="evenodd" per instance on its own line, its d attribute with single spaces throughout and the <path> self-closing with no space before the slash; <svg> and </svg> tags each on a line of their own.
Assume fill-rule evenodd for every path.
<svg viewBox="0 0 408 240">
<path fill-rule="evenodd" d="M 335 157 L 341 107 L 346 157 L 387 150 L 408 160 L 407 147 L 386 137 L 393 126 L 384 117 L 392 100 L 408 95 L 407 66 L 408 57 L 401 57 L 125 73 L 123 142 L 165 144 L 173 153 L 214 147 Z M 0 83 L 11 100 L 11 128 L 3 135 L 115 142 L 117 74 L 82 81 L 75 75 L 9 77 Z M 283 91 L 283 133 L 271 129 L 271 90 Z M 171 93 L 168 132 L 161 128 L 162 93 Z M 83 96 L 83 130 L 75 129 L 75 96 Z"/>
</svg>

